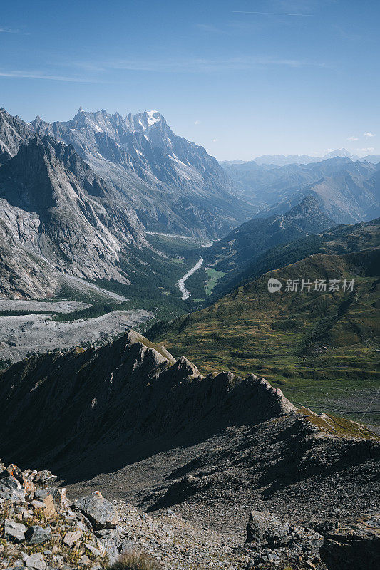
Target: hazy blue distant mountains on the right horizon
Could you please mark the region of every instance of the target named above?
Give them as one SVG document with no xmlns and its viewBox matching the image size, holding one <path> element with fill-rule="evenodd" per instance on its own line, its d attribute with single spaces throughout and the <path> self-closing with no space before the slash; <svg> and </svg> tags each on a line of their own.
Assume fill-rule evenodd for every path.
<svg viewBox="0 0 380 570">
<path fill-rule="evenodd" d="M 380 208 L 380 165 L 332 157 L 307 165 L 282 167 L 255 161 L 225 167 L 239 197 L 261 207 L 257 216 L 284 213 L 314 195 L 334 222 L 374 219 Z"/>
</svg>

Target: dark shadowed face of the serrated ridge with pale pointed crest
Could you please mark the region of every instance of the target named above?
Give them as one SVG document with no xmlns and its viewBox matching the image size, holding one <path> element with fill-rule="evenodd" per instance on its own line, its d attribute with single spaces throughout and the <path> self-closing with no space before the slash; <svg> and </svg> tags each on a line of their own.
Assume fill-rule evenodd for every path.
<svg viewBox="0 0 380 570">
<path fill-rule="evenodd" d="M 55 467 L 90 450 L 104 457 L 155 437 L 204 439 L 294 410 L 262 378 L 204 378 L 186 358 L 175 361 L 130 331 L 98 350 L 32 357 L 1 373 L 0 452 Z"/>
</svg>

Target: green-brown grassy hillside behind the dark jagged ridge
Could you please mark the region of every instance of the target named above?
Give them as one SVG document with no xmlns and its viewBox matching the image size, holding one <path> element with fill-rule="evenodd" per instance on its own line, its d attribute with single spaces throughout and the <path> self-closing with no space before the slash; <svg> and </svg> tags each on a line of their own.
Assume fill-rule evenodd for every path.
<svg viewBox="0 0 380 570">
<path fill-rule="evenodd" d="M 157 327 L 151 338 L 202 372 L 259 373 L 297 405 L 360 418 L 379 386 L 379 252 L 316 254 L 270 271 L 197 313 Z M 267 291 L 267 279 L 355 279 L 354 293 Z M 323 351 L 327 346 L 328 351 Z M 359 397 L 359 391 L 364 395 Z M 364 398 L 360 401 L 360 398 Z M 367 396 L 368 398 L 368 396 Z M 337 400 L 340 403 L 337 403 Z M 358 400 L 354 403 L 354 400 Z M 371 415 L 367 421 L 380 421 Z"/>
</svg>

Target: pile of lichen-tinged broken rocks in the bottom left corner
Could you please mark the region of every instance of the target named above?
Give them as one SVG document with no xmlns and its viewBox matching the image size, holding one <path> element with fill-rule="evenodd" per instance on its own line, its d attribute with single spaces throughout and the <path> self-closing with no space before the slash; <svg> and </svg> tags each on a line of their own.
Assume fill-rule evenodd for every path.
<svg viewBox="0 0 380 570">
<path fill-rule="evenodd" d="M 0 569 L 95 570 L 118 559 L 125 529 L 115 505 L 99 492 L 69 504 L 55 480 L 0 461 Z"/>
</svg>

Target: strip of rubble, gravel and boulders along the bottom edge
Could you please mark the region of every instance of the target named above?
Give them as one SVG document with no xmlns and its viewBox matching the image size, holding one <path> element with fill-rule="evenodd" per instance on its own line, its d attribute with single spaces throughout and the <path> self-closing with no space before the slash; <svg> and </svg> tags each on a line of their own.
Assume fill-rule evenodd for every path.
<svg viewBox="0 0 380 570">
<path fill-rule="evenodd" d="M 1 462 L 0 470 L 1 569 L 368 570 L 379 561 L 380 517 L 313 529 L 308 522 L 292 525 L 255 511 L 245 544 L 232 546 L 170 509 L 153 518 L 98 491 L 69 502 L 50 471 L 21 471 Z M 140 566 L 127 560 L 140 560 Z"/>
</svg>

